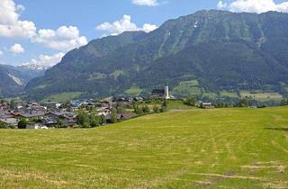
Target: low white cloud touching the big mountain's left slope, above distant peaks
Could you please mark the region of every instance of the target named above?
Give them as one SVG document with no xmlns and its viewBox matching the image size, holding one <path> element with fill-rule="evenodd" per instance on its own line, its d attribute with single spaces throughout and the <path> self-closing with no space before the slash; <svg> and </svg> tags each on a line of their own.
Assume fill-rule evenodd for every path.
<svg viewBox="0 0 288 189">
<path fill-rule="evenodd" d="M 64 57 L 64 53 L 59 52 L 55 55 L 40 55 L 38 58 L 32 58 L 31 61 L 23 63 L 24 67 L 38 67 L 38 68 L 47 68 L 57 65 L 61 59 Z"/>
</svg>

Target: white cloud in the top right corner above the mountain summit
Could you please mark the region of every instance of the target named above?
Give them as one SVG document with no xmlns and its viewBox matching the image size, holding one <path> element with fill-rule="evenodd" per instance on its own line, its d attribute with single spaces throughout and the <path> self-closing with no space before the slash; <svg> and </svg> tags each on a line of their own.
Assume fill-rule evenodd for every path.
<svg viewBox="0 0 288 189">
<path fill-rule="evenodd" d="M 274 0 L 236 0 L 229 4 L 220 1 L 218 4 L 226 4 L 226 7 L 219 8 L 228 8 L 231 12 L 261 14 L 268 11 L 276 11 L 288 13 L 288 1 L 277 4 Z"/>
</svg>

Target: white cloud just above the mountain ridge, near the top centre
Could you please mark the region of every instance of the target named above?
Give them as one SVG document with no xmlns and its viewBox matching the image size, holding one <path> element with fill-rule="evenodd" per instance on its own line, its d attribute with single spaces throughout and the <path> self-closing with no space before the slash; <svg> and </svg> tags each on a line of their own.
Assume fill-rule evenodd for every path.
<svg viewBox="0 0 288 189">
<path fill-rule="evenodd" d="M 154 31 L 157 29 L 156 25 L 145 23 L 142 28 L 137 27 L 136 23 L 131 23 L 130 15 L 123 15 L 121 20 L 115 21 L 114 23 L 102 23 L 96 26 L 97 30 L 106 31 L 110 35 L 118 35 L 123 31 Z"/>
</svg>

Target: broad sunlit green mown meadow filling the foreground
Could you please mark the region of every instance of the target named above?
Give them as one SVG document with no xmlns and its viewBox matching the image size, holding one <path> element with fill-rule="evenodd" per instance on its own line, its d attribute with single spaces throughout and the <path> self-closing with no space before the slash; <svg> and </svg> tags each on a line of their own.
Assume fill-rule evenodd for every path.
<svg viewBox="0 0 288 189">
<path fill-rule="evenodd" d="M 288 188 L 288 108 L 0 130 L 0 188 Z"/>
</svg>

